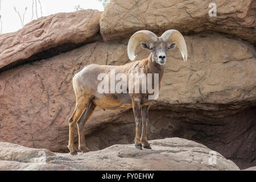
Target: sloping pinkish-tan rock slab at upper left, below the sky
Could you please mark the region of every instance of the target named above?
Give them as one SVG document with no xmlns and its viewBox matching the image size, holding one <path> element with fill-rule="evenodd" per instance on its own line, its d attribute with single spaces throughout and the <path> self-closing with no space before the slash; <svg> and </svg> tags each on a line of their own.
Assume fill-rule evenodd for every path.
<svg viewBox="0 0 256 182">
<path fill-rule="evenodd" d="M 65 43 L 85 42 L 100 30 L 98 10 L 58 13 L 0 35 L 0 69 Z"/>
</svg>

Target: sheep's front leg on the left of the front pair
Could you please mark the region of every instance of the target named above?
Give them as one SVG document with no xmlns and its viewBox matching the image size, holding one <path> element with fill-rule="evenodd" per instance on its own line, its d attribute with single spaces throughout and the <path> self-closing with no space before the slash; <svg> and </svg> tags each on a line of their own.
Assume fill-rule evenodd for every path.
<svg viewBox="0 0 256 182">
<path fill-rule="evenodd" d="M 134 139 L 135 147 L 142 150 L 142 142 L 140 137 L 139 126 L 141 125 L 141 99 L 140 98 L 132 98 L 133 102 L 133 114 L 135 118 L 135 125 L 136 125 L 136 136 Z"/>
</svg>

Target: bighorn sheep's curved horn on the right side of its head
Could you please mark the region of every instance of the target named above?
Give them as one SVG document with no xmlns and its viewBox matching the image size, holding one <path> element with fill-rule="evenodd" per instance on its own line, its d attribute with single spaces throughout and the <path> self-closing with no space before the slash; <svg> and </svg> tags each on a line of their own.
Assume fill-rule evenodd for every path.
<svg viewBox="0 0 256 182">
<path fill-rule="evenodd" d="M 188 59 L 188 51 L 187 51 L 187 45 L 185 43 L 185 40 L 182 36 L 182 34 L 177 30 L 167 30 L 163 33 L 161 36 L 161 39 L 164 42 L 176 42 L 177 46 L 180 49 L 181 55 L 183 57 L 183 60 L 186 62 Z"/>
</svg>

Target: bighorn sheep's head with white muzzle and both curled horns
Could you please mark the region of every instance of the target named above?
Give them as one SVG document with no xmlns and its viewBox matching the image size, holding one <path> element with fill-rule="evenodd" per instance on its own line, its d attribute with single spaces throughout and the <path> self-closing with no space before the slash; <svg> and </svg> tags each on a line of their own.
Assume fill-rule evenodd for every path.
<svg viewBox="0 0 256 182">
<path fill-rule="evenodd" d="M 142 48 L 149 49 L 152 53 L 153 61 L 160 65 L 166 63 L 166 52 L 168 49 L 179 47 L 183 60 L 187 61 L 187 46 L 183 36 L 177 30 L 168 30 L 160 37 L 148 30 L 141 30 L 131 36 L 128 43 L 128 56 L 131 61 L 135 60 L 135 49 L 141 44 Z"/>
</svg>

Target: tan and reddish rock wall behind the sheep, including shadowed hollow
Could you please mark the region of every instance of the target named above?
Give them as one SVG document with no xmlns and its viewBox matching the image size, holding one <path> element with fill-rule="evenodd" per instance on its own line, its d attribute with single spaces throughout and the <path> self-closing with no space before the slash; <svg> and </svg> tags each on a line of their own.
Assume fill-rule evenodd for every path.
<svg viewBox="0 0 256 182">
<path fill-rule="evenodd" d="M 217 17 L 209 17 L 208 1 L 170 1 L 162 16 L 164 1 L 134 2 L 112 0 L 102 16 L 51 15 L 0 35 L 0 142 L 68 152 L 73 74 L 92 63 L 129 63 L 130 34 L 173 28 L 187 35 L 188 62 L 178 49 L 168 52 L 148 139 L 194 140 L 241 169 L 256 166 L 255 1 L 216 2 Z M 138 48 L 138 59 L 148 55 Z M 93 151 L 134 140 L 131 110 L 98 108 L 85 127 Z"/>
</svg>

